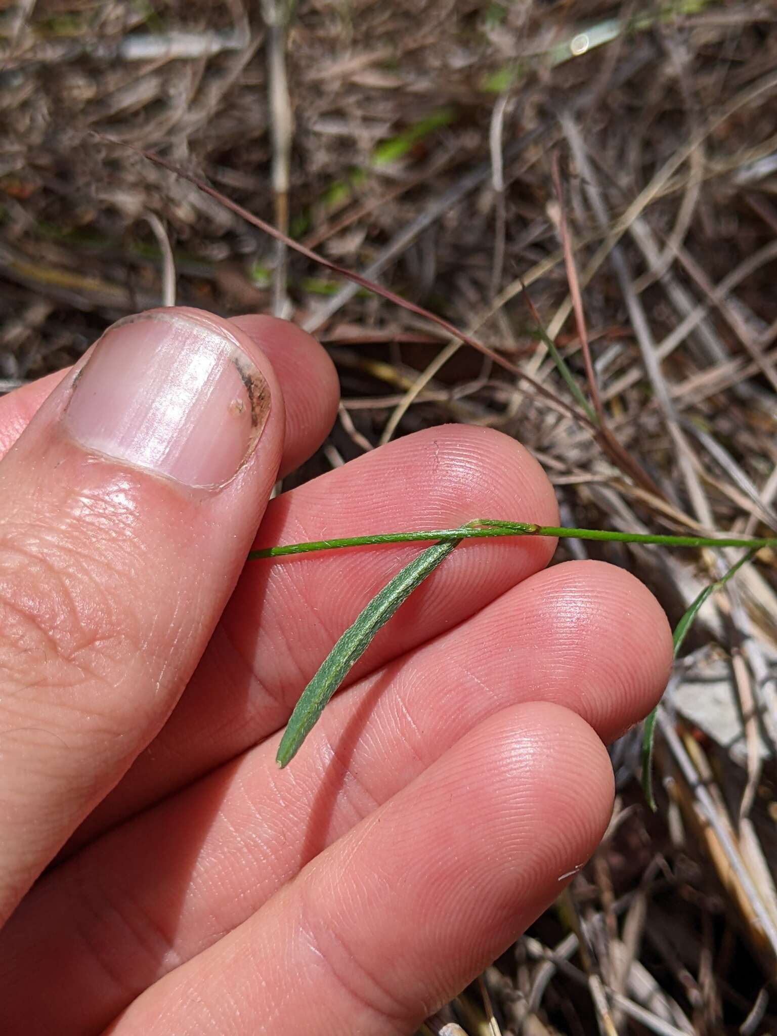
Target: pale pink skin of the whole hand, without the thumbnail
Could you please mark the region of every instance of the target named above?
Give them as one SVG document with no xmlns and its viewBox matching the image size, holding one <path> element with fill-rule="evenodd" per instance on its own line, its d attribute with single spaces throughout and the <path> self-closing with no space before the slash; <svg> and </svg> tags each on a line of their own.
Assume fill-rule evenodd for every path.
<svg viewBox="0 0 777 1036">
<path fill-rule="evenodd" d="M 68 438 L 66 374 L 0 400 L 2 1032 L 412 1033 L 594 852 L 604 745 L 665 686 L 669 627 L 633 576 L 472 541 L 279 772 L 306 683 L 421 548 L 246 566 L 252 546 L 557 513 L 522 447 L 463 426 L 268 503 L 337 378 L 290 324 L 229 329 L 272 407 L 209 495 Z"/>
</svg>

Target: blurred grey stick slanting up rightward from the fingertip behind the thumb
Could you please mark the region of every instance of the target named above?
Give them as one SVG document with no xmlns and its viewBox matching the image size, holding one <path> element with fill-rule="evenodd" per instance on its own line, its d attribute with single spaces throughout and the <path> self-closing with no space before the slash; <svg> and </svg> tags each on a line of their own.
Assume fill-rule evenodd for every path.
<svg viewBox="0 0 777 1036">
<path fill-rule="evenodd" d="M 524 150 L 529 144 L 534 143 L 541 135 L 541 130 L 534 130 L 531 133 L 526 134 L 519 141 L 517 141 L 512 147 L 506 149 L 506 156 L 512 159 Z M 474 169 L 471 169 L 468 173 L 464 174 L 457 183 L 449 188 L 448 191 L 443 192 L 439 197 L 433 199 L 427 207 L 411 220 L 408 224 L 402 227 L 388 241 L 385 248 L 381 249 L 378 258 L 370 263 L 370 265 L 363 270 L 359 275 L 363 279 L 373 281 L 376 277 L 379 277 L 383 270 L 390 266 L 398 256 L 401 256 L 410 244 L 422 234 L 425 230 L 432 226 L 444 212 L 447 212 L 454 205 L 457 205 L 462 198 L 465 198 L 470 191 L 473 191 L 477 186 L 480 186 L 485 180 L 491 175 L 491 163 L 484 162 Z M 341 288 L 336 295 L 333 295 L 326 303 L 319 306 L 313 314 L 305 321 L 303 327 L 305 330 L 313 334 L 318 330 L 327 320 L 329 320 L 339 310 L 345 306 L 346 303 L 350 301 L 351 298 L 358 291 L 358 285 L 355 283 L 347 284 L 345 287 Z"/>
</svg>

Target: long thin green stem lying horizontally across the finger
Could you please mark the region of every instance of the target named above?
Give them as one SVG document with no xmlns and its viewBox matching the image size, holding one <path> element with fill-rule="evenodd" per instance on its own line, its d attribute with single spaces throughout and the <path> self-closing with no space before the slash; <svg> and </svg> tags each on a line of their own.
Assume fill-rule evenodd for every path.
<svg viewBox="0 0 777 1036">
<path fill-rule="evenodd" d="M 753 539 L 745 537 L 662 536 L 652 533 L 617 533 L 601 528 L 566 528 L 555 525 L 537 525 L 533 522 L 509 522 L 481 519 L 478 527 L 463 525 L 459 528 L 438 528 L 429 531 L 377 533 L 372 536 L 351 536 L 332 540 L 314 540 L 310 543 L 292 543 L 280 547 L 252 550 L 249 560 L 283 557 L 287 554 L 308 554 L 317 550 L 338 550 L 343 547 L 372 547 L 383 543 L 421 543 L 428 540 L 486 540 L 502 536 L 545 536 L 557 539 L 600 540 L 606 543 L 653 543 L 664 547 L 743 547 L 760 550 L 777 547 L 777 538 Z"/>
</svg>

